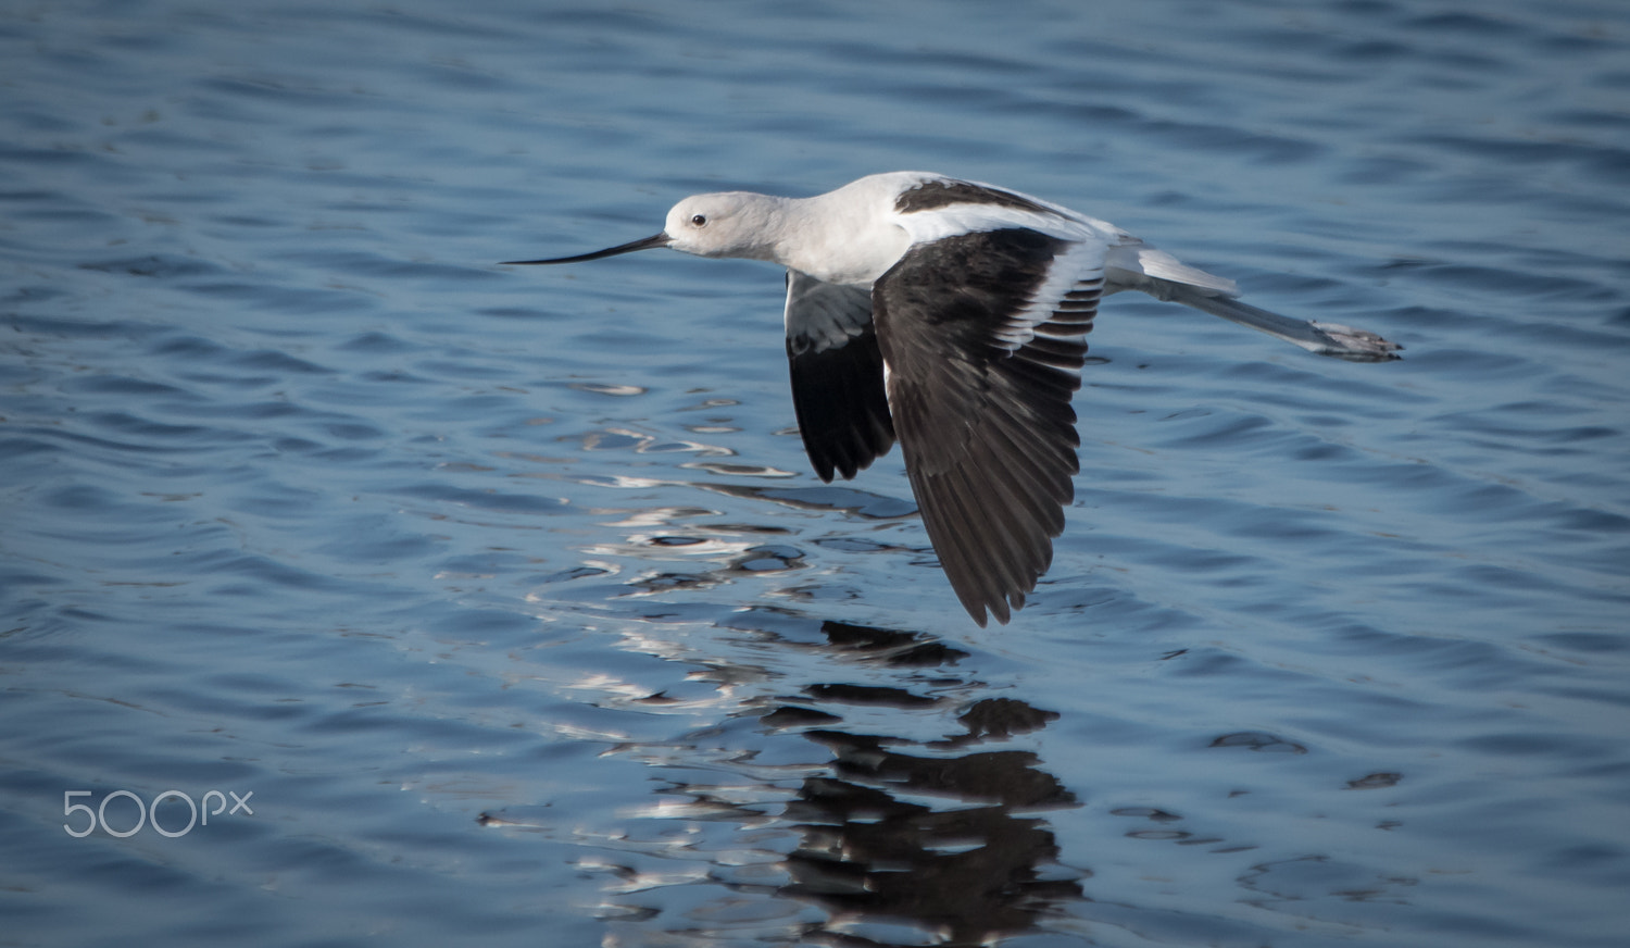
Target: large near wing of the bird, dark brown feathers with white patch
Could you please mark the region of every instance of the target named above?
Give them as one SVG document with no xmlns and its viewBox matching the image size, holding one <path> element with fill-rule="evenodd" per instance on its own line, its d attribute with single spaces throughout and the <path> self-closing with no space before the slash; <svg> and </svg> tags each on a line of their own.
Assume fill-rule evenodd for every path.
<svg viewBox="0 0 1630 948">
<path fill-rule="evenodd" d="M 975 622 L 1053 560 L 1077 470 L 1105 243 L 1024 227 L 914 245 L 872 287 L 888 406 L 929 540 Z"/>
</svg>

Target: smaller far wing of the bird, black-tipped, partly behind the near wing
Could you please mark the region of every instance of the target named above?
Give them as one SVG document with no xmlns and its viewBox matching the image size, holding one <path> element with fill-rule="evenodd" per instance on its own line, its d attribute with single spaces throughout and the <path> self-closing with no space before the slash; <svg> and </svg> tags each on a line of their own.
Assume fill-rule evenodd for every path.
<svg viewBox="0 0 1630 948">
<path fill-rule="evenodd" d="M 789 269 L 787 362 L 804 450 L 823 481 L 888 454 L 895 427 L 869 290 Z"/>
</svg>

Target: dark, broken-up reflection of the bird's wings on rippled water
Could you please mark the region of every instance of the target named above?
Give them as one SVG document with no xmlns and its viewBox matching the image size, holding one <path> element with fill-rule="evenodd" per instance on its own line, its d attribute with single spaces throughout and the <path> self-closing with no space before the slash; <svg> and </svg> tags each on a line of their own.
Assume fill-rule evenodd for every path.
<svg viewBox="0 0 1630 948">
<path fill-rule="evenodd" d="M 965 654 L 898 631 L 833 622 L 823 631 L 833 646 L 888 664 L 931 667 Z M 781 894 L 833 914 L 808 938 L 885 945 L 849 928 L 857 920 L 893 920 L 929 930 L 941 943 L 980 945 L 1033 928 L 1060 902 L 1081 897 L 1086 873 L 1060 866 L 1053 832 L 1042 817 L 1027 816 L 1074 806 L 1074 795 L 1029 751 L 980 749 L 1058 715 L 1015 698 L 985 698 L 957 718 L 960 734 L 910 741 L 848 733 L 833 721 L 841 721 L 846 703 L 918 710 L 936 698 L 846 684 L 810 685 L 805 693 L 820 707 L 787 703 L 763 720 L 805 728 L 805 738 L 833 754 L 833 775 L 805 778 L 784 813 L 802 842 L 786 860 L 792 881 Z"/>
</svg>

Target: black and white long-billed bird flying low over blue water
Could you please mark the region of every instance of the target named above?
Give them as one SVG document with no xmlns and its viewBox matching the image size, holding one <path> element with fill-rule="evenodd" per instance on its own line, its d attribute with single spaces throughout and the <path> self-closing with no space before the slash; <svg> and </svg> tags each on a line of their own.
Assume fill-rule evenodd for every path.
<svg viewBox="0 0 1630 948">
<path fill-rule="evenodd" d="M 1386 362 L 1376 333 L 1237 299 L 1234 281 L 1020 191 L 927 171 L 813 197 L 694 194 L 652 237 L 549 259 L 672 248 L 786 268 L 792 408 L 823 481 L 890 450 L 968 615 L 1006 625 L 1053 561 L 1079 472 L 1076 411 L 1099 302 L 1141 290 L 1320 356 Z"/>
</svg>

